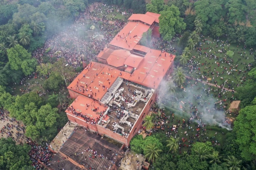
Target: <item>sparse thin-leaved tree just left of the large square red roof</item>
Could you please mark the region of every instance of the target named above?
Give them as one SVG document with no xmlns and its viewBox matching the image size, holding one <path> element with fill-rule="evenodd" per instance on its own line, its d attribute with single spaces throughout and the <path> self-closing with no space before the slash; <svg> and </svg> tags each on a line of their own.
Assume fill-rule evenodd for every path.
<svg viewBox="0 0 256 170">
<path fill-rule="evenodd" d="M 70 65 L 66 65 L 64 58 L 60 58 L 53 64 L 53 70 L 59 73 L 60 77 L 65 81 L 66 86 L 68 86 L 67 80 L 75 76 L 74 68 Z"/>
</svg>

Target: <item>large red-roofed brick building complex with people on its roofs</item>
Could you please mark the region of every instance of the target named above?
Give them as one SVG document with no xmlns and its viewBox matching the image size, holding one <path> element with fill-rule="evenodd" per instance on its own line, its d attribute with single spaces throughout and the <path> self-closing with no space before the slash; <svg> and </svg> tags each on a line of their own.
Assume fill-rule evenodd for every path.
<svg viewBox="0 0 256 170">
<path fill-rule="evenodd" d="M 156 101 L 175 56 L 140 45 L 143 32 L 159 35 L 159 14 L 133 14 L 102 52 L 68 86 L 68 119 L 128 146 Z"/>
</svg>

